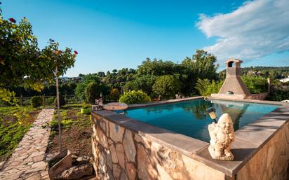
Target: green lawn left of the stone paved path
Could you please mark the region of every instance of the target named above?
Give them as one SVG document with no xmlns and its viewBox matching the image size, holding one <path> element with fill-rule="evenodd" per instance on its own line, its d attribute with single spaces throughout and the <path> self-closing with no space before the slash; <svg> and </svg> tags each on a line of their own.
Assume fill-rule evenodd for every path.
<svg viewBox="0 0 289 180">
<path fill-rule="evenodd" d="M 0 162 L 11 155 L 40 111 L 32 106 L 0 106 Z"/>
</svg>

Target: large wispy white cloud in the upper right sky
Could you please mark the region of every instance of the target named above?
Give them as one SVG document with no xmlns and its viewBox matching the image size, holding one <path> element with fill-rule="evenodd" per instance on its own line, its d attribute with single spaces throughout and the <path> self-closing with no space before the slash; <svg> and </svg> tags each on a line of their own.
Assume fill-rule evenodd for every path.
<svg viewBox="0 0 289 180">
<path fill-rule="evenodd" d="M 217 37 L 204 50 L 218 60 L 256 60 L 289 50 L 289 1 L 248 1 L 231 13 L 200 15 L 196 26 L 208 38 Z"/>
</svg>

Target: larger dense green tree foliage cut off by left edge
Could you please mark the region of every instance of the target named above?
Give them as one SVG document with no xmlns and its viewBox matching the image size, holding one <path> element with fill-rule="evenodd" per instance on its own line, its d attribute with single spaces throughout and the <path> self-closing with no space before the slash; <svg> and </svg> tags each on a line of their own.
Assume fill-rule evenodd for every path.
<svg viewBox="0 0 289 180">
<path fill-rule="evenodd" d="M 4 20 L 1 12 L 0 8 L 0 99 L 11 102 L 15 93 L 8 86 L 25 84 L 25 88 L 40 91 L 41 83 L 49 77 L 46 60 L 39 59 L 37 39 L 27 18 L 17 24 L 13 18 Z"/>
</svg>

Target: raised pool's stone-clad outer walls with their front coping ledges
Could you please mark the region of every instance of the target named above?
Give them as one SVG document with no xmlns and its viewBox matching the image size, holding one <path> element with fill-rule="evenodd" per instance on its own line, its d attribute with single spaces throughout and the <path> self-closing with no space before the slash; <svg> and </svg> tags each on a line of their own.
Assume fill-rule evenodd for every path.
<svg viewBox="0 0 289 180">
<path fill-rule="evenodd" d="M 288 119 L 289 107 L 282 106 L 236 131 L 236 159 L 228 162 L 210 158 L 205 142 L 112 111 L 93 111 L 95 173 L 103 180 L 289 179 Z"/>
</svg>

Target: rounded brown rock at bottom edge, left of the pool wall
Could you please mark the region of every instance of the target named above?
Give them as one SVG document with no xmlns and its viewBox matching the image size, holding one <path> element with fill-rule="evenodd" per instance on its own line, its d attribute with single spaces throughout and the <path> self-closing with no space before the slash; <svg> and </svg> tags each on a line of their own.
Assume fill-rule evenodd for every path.
<svg viewBox="0 0 289 180">
<path fill-rule="evenodd" d="M 79 179 L 83 176 L 89 176 L 93 174 L 93 166 L 90 164 L 73 166 L 69 169 L 65 169 L 58 174 L 55 179 Z"/>
</svg>

